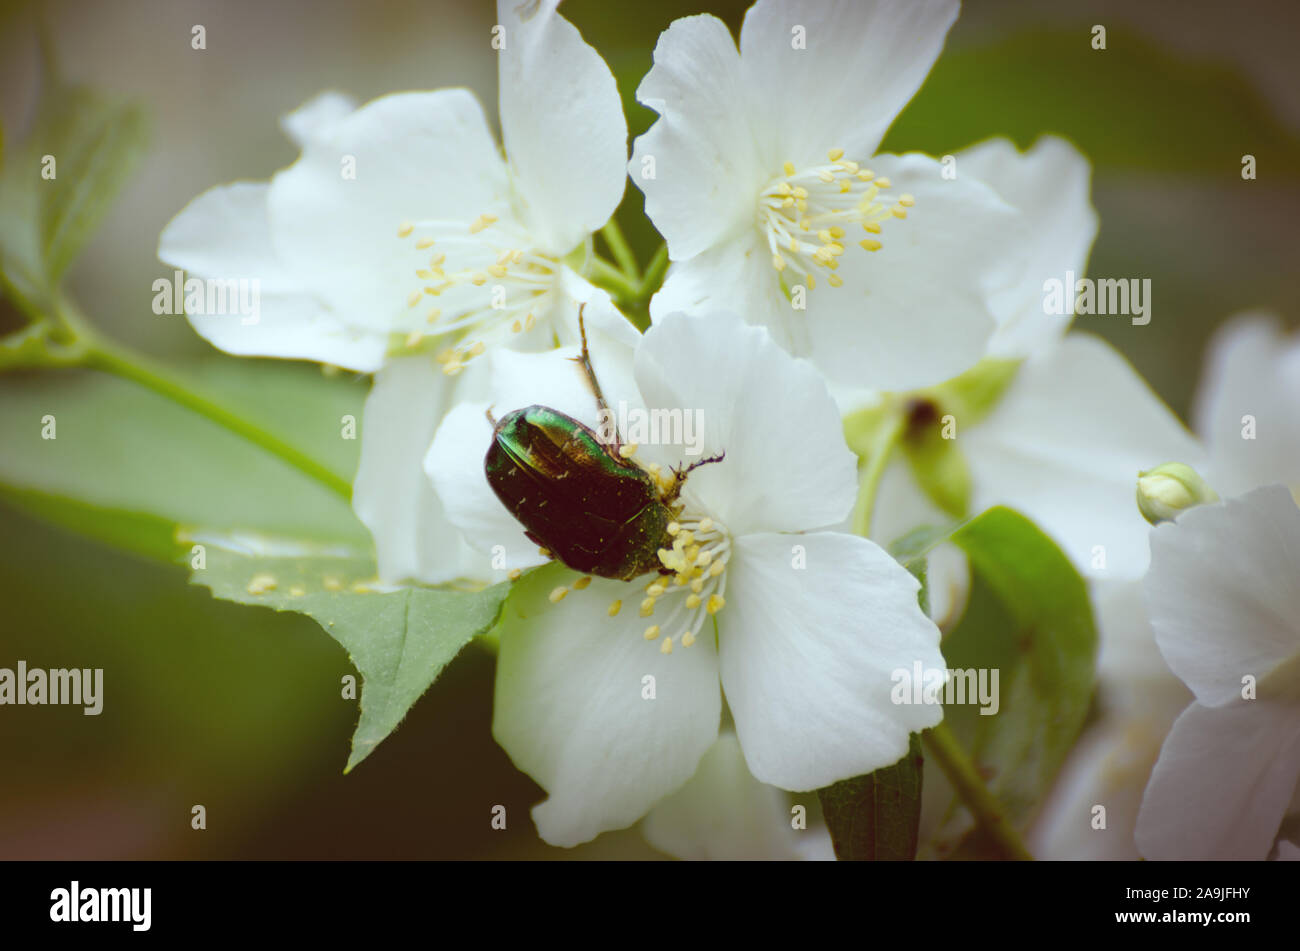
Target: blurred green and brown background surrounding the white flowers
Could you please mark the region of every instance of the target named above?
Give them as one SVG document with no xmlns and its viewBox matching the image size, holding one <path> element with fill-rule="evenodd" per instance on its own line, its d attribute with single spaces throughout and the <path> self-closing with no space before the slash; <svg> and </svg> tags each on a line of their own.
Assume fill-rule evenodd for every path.
<svg viewBox="0 0 1300 951">
<path fill-rule="evenodd" d="M 745 4 L 568 0 L 563 12 L 633 94 L 655 38 Z M 122 0 L 0 6 L 0 118 L 13 143 L 36 95 L 35 17 L 72 79 L 142 101 L 150 152 L 74 265 L 69 287 L 109 335 L 199 378 L 350 476 L 367 382 L 214 352 L 151 311 L 169 275 L 157 235 L 212 184 L 295 157 L 277 120 L 324 88 L 367 100 L 469 86 L 493 112 L 490 3 Z M 207 49 L 190 47 L 195 23 Z M 1108 30 L 1091 47 L 1092 26 Z M 1300 318 L 1300 5 L 975 0 L 889 149 L 942 155 L 1041 133 L 1093 161 L 1101 231 L 1089 272 L 1149 277 L 1153 318 L 1082 318 L 1170 405 L 1188 409 L 1205 343 L 1230 314 Z M 1257 181 L 1240 177 L 1254 155 Z M 645 262 L 656 246 L 629 184 L 619 212 Z M 0 330 L 17 316 L 0 304 Z M 58 439 L 39 438 L 55 413 Z M 103 666 L 99 717 L 0 707 L 0 857 L 654 857 L 633 829 L 552 850 L 541 790 L 490 735 L 493 659 L 467 648 L 402 728 L 342 776 L 355 702 L 344 651 L 315 621 L 209 598 L 165 563 L 173 524 L 359 538 L 350 511 L 274 459 L 130 383 L 82 372 L 0 378 L 0 666 Z M 70 498 L 94 503 L 72 504 Z M 105 516 L 107 513 L 107 516 Z M 147 514 L 143 514 L 147 513 Z M 190 828 L 207 808 L 208 828 Z M 504 804 L 506 831 L 489 828 Z"/>
</svg>

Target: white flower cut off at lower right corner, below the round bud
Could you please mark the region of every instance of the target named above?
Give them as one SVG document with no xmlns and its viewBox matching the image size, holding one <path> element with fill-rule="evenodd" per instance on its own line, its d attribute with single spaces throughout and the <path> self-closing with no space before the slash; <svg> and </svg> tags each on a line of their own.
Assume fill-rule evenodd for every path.
<svg viewBox="0 0 1300 951">
<path fill-rule="evenodd" d="M 1148 859 L 1265 859 L 1300 803 L 1300 508 L 1282 486 L 1152 530 L 1156 642 L 1196 695 L 1138 817 Z M 1253 689 L 1248 685 L 1253 683 Z"/>
</svg>

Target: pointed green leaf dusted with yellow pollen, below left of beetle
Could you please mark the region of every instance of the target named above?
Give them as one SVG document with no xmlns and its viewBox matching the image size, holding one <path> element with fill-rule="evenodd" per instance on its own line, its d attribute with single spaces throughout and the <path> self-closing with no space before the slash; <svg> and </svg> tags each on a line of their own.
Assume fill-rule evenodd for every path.
<svg viewBox="0 0 1300 951">
<path fill-rule="evenodd" d="M 481 591 L 382 590 L 369 555 L 254 535 L 202 531 L 190 582 L 213 596 L 316 620 L 348 652 L 364 681 L 361 718 L 344 772 L 364 760 L 474 637 L 497 624 L 508 583 Z"/>
</svg>

